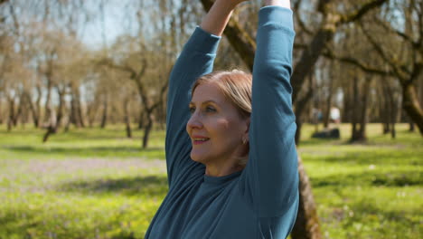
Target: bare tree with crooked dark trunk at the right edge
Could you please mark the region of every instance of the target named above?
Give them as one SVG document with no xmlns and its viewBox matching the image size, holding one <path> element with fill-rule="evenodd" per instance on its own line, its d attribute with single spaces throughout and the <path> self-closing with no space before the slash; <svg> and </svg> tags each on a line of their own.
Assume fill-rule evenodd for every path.
<svg viewBox="0 0 423 239">
<path fill-rule="evenodd" d="M 392 76 L 402 86 L 402 107 L 416 123 L 423 135 L 423 110 L 418 101 L 416 84 L 423 69 L 423 3 L 421 1 L 393 1 L 381 14 L 365 18 L 361 24 L 366 43 L 379 55 L 382 65 L 352 56 L 328 53 L 333 59 L 348 62 L 361 68 L 364 72 Z M 404 21 L 398 26 L 398 15 Z M 378 37 L 383 35 L 383 37 Z M 395 47 L 392 47 L 395 45 Z M 401 51 L 396 51 L 401 49 Z"/>
</svg>

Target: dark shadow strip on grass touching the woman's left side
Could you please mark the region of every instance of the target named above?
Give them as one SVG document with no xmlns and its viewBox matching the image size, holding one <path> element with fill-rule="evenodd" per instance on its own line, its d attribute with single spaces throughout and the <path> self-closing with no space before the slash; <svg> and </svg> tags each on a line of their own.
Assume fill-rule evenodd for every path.
<svg viewBox="0 0 423 239">
<path fill-rule="evenodd" d="M 57 190 L 82 194 L 118 193 L 125 196 L 164 196 L 167 189 L 166 177 L 146 176 L 76 181 L 61 185 Z"/>
</svg>

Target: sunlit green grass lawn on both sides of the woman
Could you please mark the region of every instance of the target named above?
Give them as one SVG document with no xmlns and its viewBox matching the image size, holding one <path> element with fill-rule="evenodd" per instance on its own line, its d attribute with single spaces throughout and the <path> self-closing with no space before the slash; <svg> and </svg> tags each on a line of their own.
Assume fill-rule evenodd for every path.
<svg viewBox="0 0 423 239">
<path fill-rule="evenodd" d="M 310 139 L 298 150 L 325 238 L 419 238 L 423 139 L 371 124 L 369 141 Z M 0 126 L 0 238 L 143 238 L 167 191 L 164 131 L 142 149 L 123 126 L 71 129 L 42 144 L 41 129 Z"/>
</svg>

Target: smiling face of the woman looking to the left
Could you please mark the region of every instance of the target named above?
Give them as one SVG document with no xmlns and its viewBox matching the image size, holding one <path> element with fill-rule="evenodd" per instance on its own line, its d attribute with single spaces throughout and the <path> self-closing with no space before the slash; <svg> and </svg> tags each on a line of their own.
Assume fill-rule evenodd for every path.
<svg viewBox="0 0 423 239">
<path fill-rule="evenodd" d="M 202 164 L 219 164 L 242 157 L 242 139 L 248 137 L 249 119 L 213 83 L 197 86 L 190 102 L 191 118 L 186 130 L 192 140 L 191 158 Z"/>
</svg>

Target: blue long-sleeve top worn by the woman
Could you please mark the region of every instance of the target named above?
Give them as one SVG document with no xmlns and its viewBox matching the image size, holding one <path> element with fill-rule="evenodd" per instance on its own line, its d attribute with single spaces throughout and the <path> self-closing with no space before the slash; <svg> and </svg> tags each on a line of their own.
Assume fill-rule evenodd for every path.
<svg viewBox="0 0 423 239">
<path fill-rule="evenodd" d="M 197 27 L 171 73 L 165 152 L 169 192 L 146 238 L 286 238 L 298 207 L 295 115 L 289 83 L 292 11 L 266 6 L 258 14 L 253 68 L 249 161 L 225 177 L 205 175 L 190 158 L 185 130 L 193 82 L 212 71 L 220 37 Z"/>
</svg>

